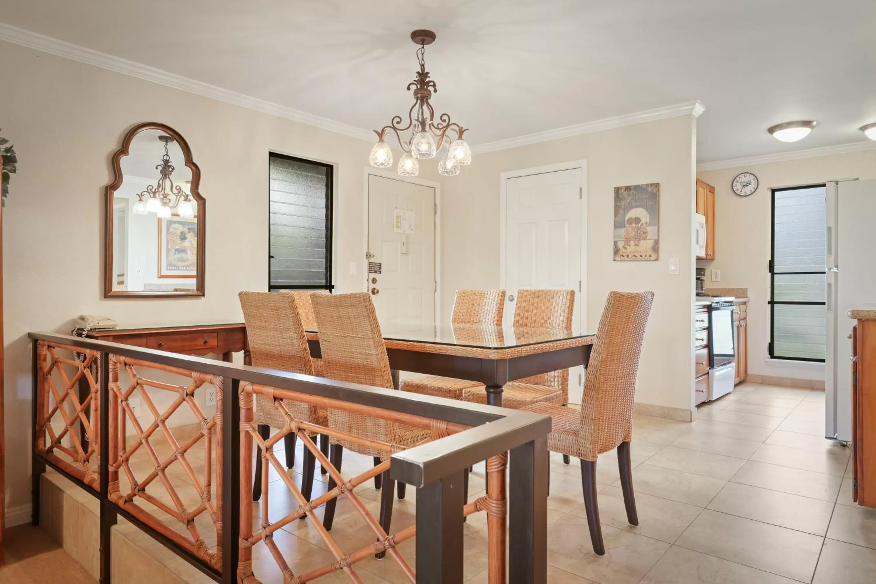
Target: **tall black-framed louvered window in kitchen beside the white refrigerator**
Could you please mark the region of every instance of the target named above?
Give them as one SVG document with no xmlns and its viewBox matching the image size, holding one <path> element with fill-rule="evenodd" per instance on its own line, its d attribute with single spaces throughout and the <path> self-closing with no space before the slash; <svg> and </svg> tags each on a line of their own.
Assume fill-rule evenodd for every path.
<svg viewBox="0 0 876 584">
<path fill-rule="evenodd" d="M 773 190 L 770 356 L 823 361 L 827 333 L 823 185 Z"/>
</svg>

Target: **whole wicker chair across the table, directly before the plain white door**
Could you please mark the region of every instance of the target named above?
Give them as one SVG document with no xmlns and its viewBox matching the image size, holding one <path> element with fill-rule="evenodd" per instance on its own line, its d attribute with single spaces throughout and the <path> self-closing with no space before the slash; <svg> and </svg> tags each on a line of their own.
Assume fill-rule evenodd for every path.
<svg viewBox="0 0 876 584">
<path fill-rule="evenodd" d="M 523 289 L 517 293 L 513 326 L 526 334 L 526 329 L 571 329 L 575 309 L 574 290 Z M 484 385 L 478 383 L 463 390 L 463 401 L 487 403 Z M 505 384 L 502 405 L 519 410 L 526 405 L 545 402 L 564 405 L 569 402 L 569 369 L 560 369 L 536 376 L 524 377 Z"/>
</svg>

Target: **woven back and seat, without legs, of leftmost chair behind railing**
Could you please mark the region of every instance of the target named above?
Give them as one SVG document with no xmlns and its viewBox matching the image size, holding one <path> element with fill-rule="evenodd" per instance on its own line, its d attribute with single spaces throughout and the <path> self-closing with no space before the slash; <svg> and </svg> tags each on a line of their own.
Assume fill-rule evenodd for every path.
<svg viewBox="0 0 876 584">
<path fill-rule="evenodd" d="M 244 311 L 252 364 L 313 375 L 314 365 L 294 297 L 272 292 L 240 292 L 237 296 Z M 306 421 L 318 418 L 313 405 L 288 399 L 284 405 L 295 418 Z M 270 400 L 261 395 L 256 396 L 256 422 L 275 428 L 286 426 L 286 420 Z"/>
</svg>

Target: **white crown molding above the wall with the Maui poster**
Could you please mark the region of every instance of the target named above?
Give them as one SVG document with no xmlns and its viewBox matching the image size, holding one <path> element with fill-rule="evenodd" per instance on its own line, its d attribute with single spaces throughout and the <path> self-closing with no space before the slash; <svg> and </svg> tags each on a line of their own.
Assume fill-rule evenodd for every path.
<svg viewBox="0 0 876 584">
<path fill-rule="evenodd" d="M 702 114 L 705 109 L 703 103 L 698 101 L 677 103 L 663 108 L 646 109 L 645 111 L 638 111 L 623 116 L 606 117 L 602 120 L 594 120 L 593 122 L 576 123 L 573 126 L 565 126 L 564 128 L 556 128 L 555 130 L 546 130 L 534 134 L 526 134 L 525 136 L 497 140 L 496 142 L 478 144 L 477 146 L 473 146 L 471 151 L 475 154 L 483 154 L 484 152 L 506 150 L 508 148 L 526 146 L 527 144 L 538 144 L 540 142 L 548 142 L 550 140 L 557 140 L 564 137 L 580 136 L 592 132 L 621 128 L 623 126 L 630 126 L 634 123 L 653 122 L 654 120 L 662 120 L 667 117 L 697 117 Z"/>
</svg>

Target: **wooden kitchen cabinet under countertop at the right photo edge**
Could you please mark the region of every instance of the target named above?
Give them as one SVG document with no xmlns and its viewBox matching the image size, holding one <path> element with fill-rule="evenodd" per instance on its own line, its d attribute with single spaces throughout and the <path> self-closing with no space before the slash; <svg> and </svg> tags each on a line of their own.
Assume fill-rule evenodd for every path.
<svg viewBox="0 0 876 584">
<path fill-rule="evenodd" d="M 854 311 L 852 311 L 854 312 Z M 851 331 L 851 499 L 876 507 L 876 320 Z"/>
</svg>

